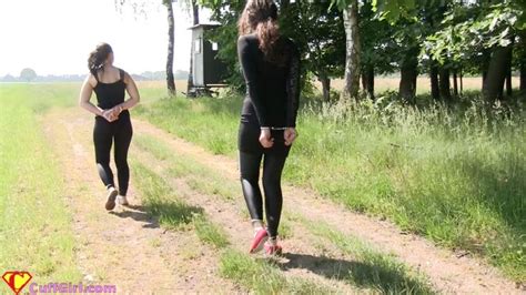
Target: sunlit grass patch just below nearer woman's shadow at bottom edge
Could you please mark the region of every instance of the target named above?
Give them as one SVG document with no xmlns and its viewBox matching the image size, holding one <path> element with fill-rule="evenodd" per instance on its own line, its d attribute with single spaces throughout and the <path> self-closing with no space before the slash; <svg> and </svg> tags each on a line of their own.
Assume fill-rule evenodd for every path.
<svg viewBox="0 0 526 295">
<path fill-rule="evenodd" d="M 221 255 L 220 272 L 255 294 L 334 293 L 327 286 L 301 278 L 287 278 L 271 261 L 257 261 L 235 250 L 227 250 Z"/>
</svg>

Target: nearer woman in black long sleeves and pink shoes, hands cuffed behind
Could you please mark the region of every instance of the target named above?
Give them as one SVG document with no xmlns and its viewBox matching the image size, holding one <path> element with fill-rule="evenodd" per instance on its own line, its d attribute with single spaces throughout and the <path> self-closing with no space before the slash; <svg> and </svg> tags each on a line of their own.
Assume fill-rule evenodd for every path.
<svg viewBox="0 0 526 295">
<path fill-rule="evenodd" d="M 237 54 L 246 84 L 239 130 L 241 185 L 252 218 L 250 252 L 282 252 L 277 228 L 282 211 L 281 174 L 292 143 L 300 100 L 300 52 L 280 34 L 272 0 L 249 0 L 239 20 Z M 263 162 L 263 197 L 259 186 Z"/>
</svg>

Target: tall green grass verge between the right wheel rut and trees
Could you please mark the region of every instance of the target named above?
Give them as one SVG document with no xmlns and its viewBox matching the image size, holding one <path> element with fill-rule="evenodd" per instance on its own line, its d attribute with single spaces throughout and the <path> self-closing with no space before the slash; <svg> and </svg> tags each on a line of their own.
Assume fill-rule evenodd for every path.
<svg viewBox="0 0 526 295">
<path fill-rule="evenodd" d="M 525 112 L 476 105 L 308 103 L 284 176 L 526 281 Z M 172 99 L 136 114 L 234 157 L 240 109 L 239 96 Z"/>
</svg>

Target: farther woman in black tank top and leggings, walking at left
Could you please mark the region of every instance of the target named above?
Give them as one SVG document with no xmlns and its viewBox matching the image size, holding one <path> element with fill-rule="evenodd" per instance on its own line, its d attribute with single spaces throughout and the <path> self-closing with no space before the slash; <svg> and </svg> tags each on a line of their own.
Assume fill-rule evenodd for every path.
<svg viewBox="0 0 526 295">
<path fill-rule="evenodd" d="M 133 79 L 113 65 L 113 51 L 107 43 L 99 44 L 88 58 L 90 74 L 80 91 L 79 104 L 95 115 L 93 142 L 99 175 L 107 189 L 105 208 L 115 207 L 115 199 L 128 205 L 127 191 L 130 180 L 128 149 L 132 139 L 129 109 L 139 103 L 139 91 Z M 90 99 L 97 94 L 97 105 Z M 129 99 L 124 100 L 125 92 Z M 115 189 L 110 169 L 111 145 L 114 142 L 114 161 L 119 190 Z"/>
</svg>

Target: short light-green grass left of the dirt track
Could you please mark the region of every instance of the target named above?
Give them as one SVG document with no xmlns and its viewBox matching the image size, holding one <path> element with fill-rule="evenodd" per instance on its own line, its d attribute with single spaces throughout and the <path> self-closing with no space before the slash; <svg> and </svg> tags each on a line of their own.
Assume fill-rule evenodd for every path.
<svg viewBox="0 0 526 295">
<path fill-rule="evenodd" d="M 68 87 L 0 85 L 0 269 L 37 282 L 79 282 L 65 184 L 39 114 Z M 0 293 L 9 293 L 1 284 Z"/>
</svg>

